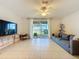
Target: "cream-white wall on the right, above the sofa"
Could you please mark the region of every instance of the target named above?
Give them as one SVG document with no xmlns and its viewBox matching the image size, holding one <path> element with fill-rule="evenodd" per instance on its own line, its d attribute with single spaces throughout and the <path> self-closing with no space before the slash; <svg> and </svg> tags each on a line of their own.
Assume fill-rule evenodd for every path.
<svg viewBox="0 0 79 59">
<path fill-rule="evenodd" d="M 62 23 L 65 24 L 66 33 L 79 37 L 79 11 L 64 17 Z"/>
</svg>

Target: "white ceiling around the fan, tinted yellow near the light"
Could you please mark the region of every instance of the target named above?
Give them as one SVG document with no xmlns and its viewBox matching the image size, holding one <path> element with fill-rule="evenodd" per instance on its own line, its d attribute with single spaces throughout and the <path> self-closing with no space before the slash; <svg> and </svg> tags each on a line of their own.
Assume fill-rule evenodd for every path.
<svg viewBox="0 0 79 59">
<path fill-rule="evenodd" d="M 0 5 L 11 10 L 21 18 L 42 17 L 39 9 L 42 0 L 0 0 Z M 49 15 L 46 17 L 62 18 L 79 10 L 79 0 L 48 0 Z"/>
</svg>

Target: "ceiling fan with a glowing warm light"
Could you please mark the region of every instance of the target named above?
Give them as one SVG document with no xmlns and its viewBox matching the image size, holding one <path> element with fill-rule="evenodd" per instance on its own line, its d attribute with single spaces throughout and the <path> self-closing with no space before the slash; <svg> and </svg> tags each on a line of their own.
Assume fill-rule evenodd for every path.
<svg viewBox="0 0 79 59">
<path fill-rule="evenodd" d="M 41 6 L 40 6 L 40 14 L 42 16 L 47 16 L 49 15 L 49 11 L 53 9 L 53 6 L 51 6 L 51 3 L 49 0 L 42 0 L 41 1 Z"/>
</svg>

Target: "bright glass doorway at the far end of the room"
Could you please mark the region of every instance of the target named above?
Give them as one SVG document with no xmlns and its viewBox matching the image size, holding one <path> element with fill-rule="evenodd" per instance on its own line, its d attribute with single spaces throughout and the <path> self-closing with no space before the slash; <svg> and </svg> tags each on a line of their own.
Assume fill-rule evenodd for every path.
<svg viewBox="0 0 79 59">
<path fill-rule="evenodd" d="M 33 38 L 47 38 L 48 37 L 48 21 L 33 21 L 32 25 Z"/>
</svg>

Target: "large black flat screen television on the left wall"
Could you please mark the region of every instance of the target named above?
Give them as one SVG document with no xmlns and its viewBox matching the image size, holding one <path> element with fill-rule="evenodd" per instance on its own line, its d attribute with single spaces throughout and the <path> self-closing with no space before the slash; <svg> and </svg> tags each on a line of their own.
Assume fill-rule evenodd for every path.
<svg viewBox="0 0 79 59">
<path fill-rule="evenodd" d="M 17 33 L 17 24 L 0 20 L 0 36 L 13 35 Z"/>
</svg>

